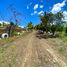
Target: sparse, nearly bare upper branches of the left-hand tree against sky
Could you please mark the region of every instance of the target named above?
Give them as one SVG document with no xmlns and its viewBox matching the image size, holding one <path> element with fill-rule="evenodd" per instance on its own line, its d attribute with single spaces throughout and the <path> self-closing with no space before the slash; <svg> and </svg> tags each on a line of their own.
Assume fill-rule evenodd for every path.
<svg viewBox="0 0 67 67">
<path fill-rule="evenodd" d="M 10 12 L 12 14 L 12 16 L 10 17 L 10 22 L 13 21 L 13 22 L 15 22 L 15 25 L 18 25 L 21 20 L 20 17 L 22 16 L 22 14 L 20 12 L 18 12 L 13 5 L 10 5 L 8 7 L 8 9 L 10 10 Z"/>
</svg>

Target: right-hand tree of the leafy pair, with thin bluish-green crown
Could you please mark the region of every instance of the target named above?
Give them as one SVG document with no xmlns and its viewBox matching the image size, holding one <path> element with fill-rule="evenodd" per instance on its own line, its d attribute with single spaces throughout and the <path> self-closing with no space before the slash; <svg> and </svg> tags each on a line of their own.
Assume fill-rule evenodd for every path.
<svg viewBox="0 0 67 67">
<path fill-rule="evenodd" d="M 57 14 L 54 14 L 53 16 L 53 24 L 52 24 L 52 33 L 53 35 L 55 34 L 56 31 L 62 32 L 63 31 L 63 21 L 62 21 L 63 13 L 58 12 Z"/>
</svg>

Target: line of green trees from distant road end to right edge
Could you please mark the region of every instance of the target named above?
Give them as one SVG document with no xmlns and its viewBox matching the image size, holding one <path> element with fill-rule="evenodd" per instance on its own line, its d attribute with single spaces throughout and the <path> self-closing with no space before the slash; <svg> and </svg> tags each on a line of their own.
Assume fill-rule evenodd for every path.
<svg viewBox="0 0 67 67">
<path fill-rule="evenodd" d="M 56 14 L 53 14 L 51 12 L 44 12 L 44 15 L 40 15 L 40 24 L 33 26 L 32 22 L 28 24 L 28 29 L 32 30 L 33 28 L 36 30 L 41 30 L 46 32 L 52 33 L 53 36 L 55 36 L 56 32 L 65 32 L 67 33 L 67 26 L 65 25 L 66 22 L 64 22 L 62 19 L 64 19 L 63 12 L 58 12 Z"/>
</svg>

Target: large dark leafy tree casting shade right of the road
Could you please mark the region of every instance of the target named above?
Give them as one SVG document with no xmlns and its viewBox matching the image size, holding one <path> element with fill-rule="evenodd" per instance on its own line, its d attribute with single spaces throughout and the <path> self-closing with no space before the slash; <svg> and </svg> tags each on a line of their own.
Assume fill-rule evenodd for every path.
<svg viewBox="0 0 67 67">
<path fill-rule="evenodd" d="M 45 12 L 43 16 L 40 16 L 42 27 L 46 30 L 46 33 L 51 31 L 53 35 L 57 30 L 56 26 L 62 23 L 62 18 L 64 18 L 62 12 L 58 12 L 57 14 Z"/>
</svg>

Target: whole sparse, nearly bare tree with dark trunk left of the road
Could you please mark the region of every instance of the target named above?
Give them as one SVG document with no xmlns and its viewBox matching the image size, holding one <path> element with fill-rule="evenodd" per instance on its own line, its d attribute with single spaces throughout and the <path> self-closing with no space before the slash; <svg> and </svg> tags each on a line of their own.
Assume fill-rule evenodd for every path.
<svg viewBox="0 0 67 67">
<path fill-rule="evenodd" d="M 12 32 L 15 31 L 15 28 L 20 23 L 20 20 L 21 20 L 20 17 L 22 16 L 22 14 L 20 12 L 18 12 L 13 5 L 10 5 L 8 7 L 8 9 L 10 10 L 11 15 L 12 15 L 10 17 L 10 20 L 9 20 L 10 21 L 10 25 L 9 25 L 9 27 L 7 27 L 8 28 L 9 36 L 11 36 Z"/>
</svg>

